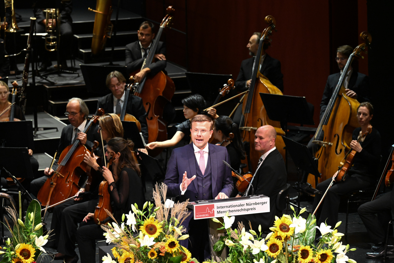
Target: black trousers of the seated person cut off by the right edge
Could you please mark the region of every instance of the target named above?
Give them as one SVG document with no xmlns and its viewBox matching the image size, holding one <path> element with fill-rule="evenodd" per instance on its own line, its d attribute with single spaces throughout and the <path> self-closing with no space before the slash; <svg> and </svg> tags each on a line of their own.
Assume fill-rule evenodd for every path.
<svg viewBox="0 0 394 263">
<path fill-rule="evenodd" d="M 394 211 L 393 192 L 378 196 L 374 201 L 364 203 L 358 209 L 368 235 L 375 244 L 385 242 L 388 222 L 392 219 L 391 213 Z"/>
</svg>

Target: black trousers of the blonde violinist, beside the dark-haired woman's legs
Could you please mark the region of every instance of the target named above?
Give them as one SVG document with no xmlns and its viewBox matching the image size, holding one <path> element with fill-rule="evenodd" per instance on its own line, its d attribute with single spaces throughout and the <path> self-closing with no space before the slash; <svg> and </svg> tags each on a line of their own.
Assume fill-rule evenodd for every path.
<svg viewBox="0 0 394 263">
<path fill-rule="evenodd" d="M 51 228 L 55 233 L 55 246 L 57 245 L 59 253 L 75 256 L 78 223 L 84 220 L 87 213 L 95 213 L 98 203 L 98 199 L 85 202 L 72 200 L 55 207 Z M 83 248 L 81 249 L 83 250 Z"/>
</svg>

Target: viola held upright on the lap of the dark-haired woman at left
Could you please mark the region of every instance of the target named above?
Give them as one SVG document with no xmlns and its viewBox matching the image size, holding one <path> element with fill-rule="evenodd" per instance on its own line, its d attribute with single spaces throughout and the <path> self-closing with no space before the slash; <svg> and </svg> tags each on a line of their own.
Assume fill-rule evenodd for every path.
<svg viewBox="0 0 394 263">
<path fill-rule="evenodd" d="M 115 153 L 111 152 L 110 159 L 108 159 L 107 168 L 111 166 L 114 159 Z M 102 173 L 102 168 L 99 168 L 99 171 Z M 111 196 L 108 192 L 108 181 L 104 179 L 99 186 L 99 204 L 96 206 L 95 216 L 93 217 L 97 225 L 105 224 L 106 222 L 108 222 L 106 218 L 108 218 L 109 216 L 105 210 L 112 213 Z"/>
</svg>

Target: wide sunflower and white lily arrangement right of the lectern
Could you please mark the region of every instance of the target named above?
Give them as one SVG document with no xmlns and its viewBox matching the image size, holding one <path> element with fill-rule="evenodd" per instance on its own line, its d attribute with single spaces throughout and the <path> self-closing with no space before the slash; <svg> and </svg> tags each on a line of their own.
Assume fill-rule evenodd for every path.
<svg viewBox="0 0 394 263">
<path fill-rule="evenodd" d="M 294 207 L 290 207 L 294 211 Z M 223 223 L 212 218 L 223 225 L 219 229 L 225 229 L 225 235 L 216 242 L 214 250 L 220 253 L 224 246 L 228 246 L 230 253 L 227 261 L 233 263 L 356 263 L 346 256 L 348 250 L 356 249 L 349 249 L 349 245 L 340 242 L 344 234 L 339 233 L 337 228 L 341 222 L 333 229 L 325 223 L 319 227 L 314 215 L 309 214 L 307 219 L 300 216 L 305 211 L 305 208 L 301 209 L 298 215 L 294 211 L 293 218 L 290 215 L 275 216 L 274 226 L 269 228 L 272 232 L 265 238 L 262 238 L 261 225 L 258 227 L 259 234 L 253 229 L 248 233 L 242 222 L 238 222 L 238 229 L 231 229 L 234 216 L 226 214 Z M 322 233 L 317 245 L 314 244 L 316 229 Z"/>
</svg>

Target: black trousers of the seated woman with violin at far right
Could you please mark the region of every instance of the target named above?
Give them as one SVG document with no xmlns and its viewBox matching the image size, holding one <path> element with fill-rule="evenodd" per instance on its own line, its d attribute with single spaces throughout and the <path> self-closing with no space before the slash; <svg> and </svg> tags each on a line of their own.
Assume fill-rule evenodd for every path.
<svg viewBox="0 0 394 263">
<path fill-rule="evenodd" d="M 315 195 L 313 210 L 318 206 L 331 181 L 332 178 L 329 178 L 317 185 L 316 188 L 322 191 L 322 193 Z M 327 225 L 334 227 L 338 222 L 338 210 L 341 196 L 348 192 L 365 189 L 369 187 L 369 185 L 369 177 L 358 174 L 347 175 L 344 182 L 333 183 L 333 186 L 327 191 L 322 204 L 315 214 L 317 219 L 316 225 L 320 226 L 321 223 L 327 222 Z"/>
</svg>

